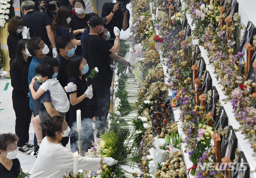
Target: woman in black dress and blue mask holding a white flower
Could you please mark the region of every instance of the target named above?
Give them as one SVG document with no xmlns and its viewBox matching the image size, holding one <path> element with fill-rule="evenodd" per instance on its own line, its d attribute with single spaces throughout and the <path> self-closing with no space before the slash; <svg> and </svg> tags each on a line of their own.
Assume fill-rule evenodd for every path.
<svg viewBox="0 0 256 178">
<path fill-rule="evenodd" d="M 88 64 L 86 59 L 81 55 L 76 55 L 68 59 L 67 71 L 68 71 L 68 83 L 73 82 L 76 84 L 77 90 L 68 93 L 70 101 L 69 109 L 69 125 L 71 127 L 70 132 L 70 145 L 71 151 L 78 150 L 77 139 L 78 134 L 75 131 L 76 128 L 76 110 L 81 110 L 82 130 L 81 138 L 83 140 L 83 151 L 87 151 L 92 146 L 94 141 L 92 118 L 95 117 L 95 111 L 91 108 L 89 101 L 92 99 L 92 86 L 88 87 L 86 82 L 85 73 L 88 72 Z"/>
</svg>

